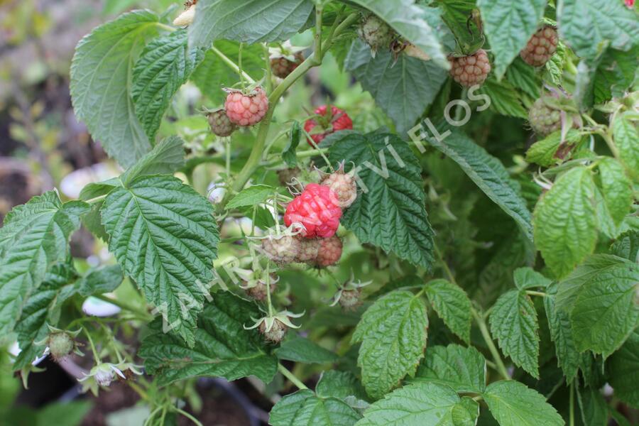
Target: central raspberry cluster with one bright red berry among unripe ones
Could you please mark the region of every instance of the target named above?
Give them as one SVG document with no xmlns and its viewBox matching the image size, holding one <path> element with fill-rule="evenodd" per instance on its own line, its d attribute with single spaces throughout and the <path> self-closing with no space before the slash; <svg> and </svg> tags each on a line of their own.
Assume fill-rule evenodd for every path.
<svg viewBox="0 0 639 426">
<path fill-rule="evenodd" d="M 353 204 L 356 197 L 354 178 L 341 168 L 321 184 L 306 185 L 284 214 L 284 224 L 297 234 L 263 239 L 263 253 L 280 264 L 310 263 L 319 268 L 334 265 L 342 257 L 342 240 L 335 235 L 342 208 Z"/>
</svg>

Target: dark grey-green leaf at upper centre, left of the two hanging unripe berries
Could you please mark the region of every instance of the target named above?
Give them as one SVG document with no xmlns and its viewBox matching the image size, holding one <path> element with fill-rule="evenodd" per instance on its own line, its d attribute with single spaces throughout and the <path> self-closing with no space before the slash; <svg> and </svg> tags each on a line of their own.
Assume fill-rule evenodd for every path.
<svg viewBox="0 0 639 426">
<path fill-rule="evenodd" d="M 355 40 L 346 58 L 346 70 L 371 92 L 376 104 L 395 123 L 398 133 L 413 127 L 435 100 L 447 78 L 446 70 L 432 61 L 400 55 L 397 61 L 390 52 L 380 51 L 375 58 L 371 48 Z"/>
</svg>

